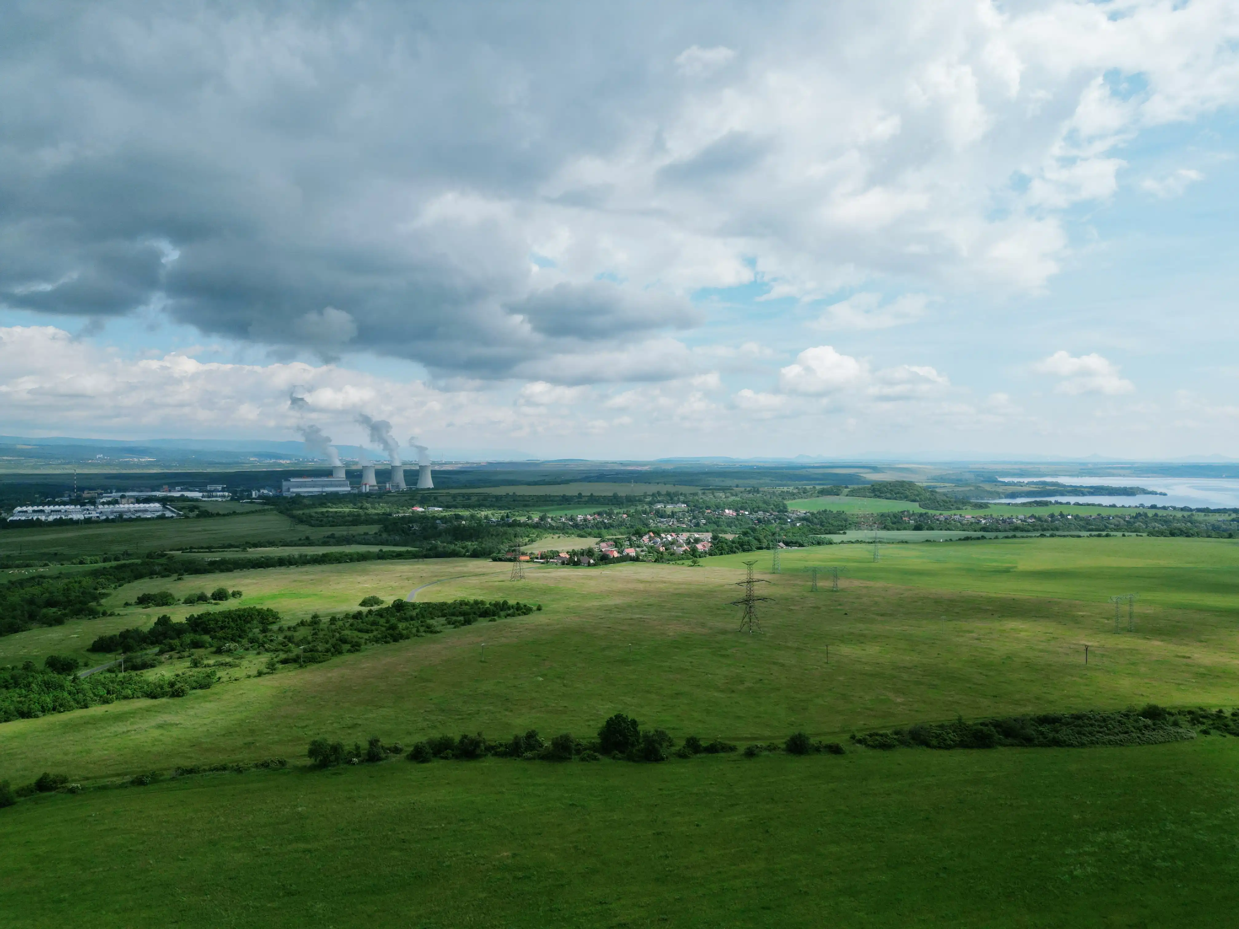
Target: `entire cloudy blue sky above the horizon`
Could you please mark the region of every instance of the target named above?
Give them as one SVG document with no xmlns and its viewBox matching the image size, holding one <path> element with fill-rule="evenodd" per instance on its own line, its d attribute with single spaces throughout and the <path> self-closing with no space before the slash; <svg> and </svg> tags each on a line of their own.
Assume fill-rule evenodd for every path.
<svg viewBox="0 0 1239 929">
<path fill-rule="evenodd" d="M 1239 457 L 1239 6 L 14 2 L 0 432 Z"/>
</svg>

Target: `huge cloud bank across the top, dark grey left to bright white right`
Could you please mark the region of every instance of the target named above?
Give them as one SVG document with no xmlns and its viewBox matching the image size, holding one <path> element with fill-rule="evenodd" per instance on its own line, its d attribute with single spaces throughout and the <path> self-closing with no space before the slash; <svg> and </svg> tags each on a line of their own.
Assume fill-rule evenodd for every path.
<svg viewBox="0 0 1239 929">
<path fill-rule="evenodd" d="M 0 302 L 472 379 L 587 377 L 756 279 L 1041 287 L 1123 146 L 1239 99 L 1225 2 L 48 0 L 0 50 Z"/>
</svg>

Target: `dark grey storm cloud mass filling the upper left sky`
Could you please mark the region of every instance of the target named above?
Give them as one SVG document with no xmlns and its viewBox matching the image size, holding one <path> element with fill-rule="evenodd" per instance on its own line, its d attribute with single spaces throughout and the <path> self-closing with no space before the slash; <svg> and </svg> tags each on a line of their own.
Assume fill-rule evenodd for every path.
<svg viewBox="0 0 1239 929">
<path fill-rule="evenodd" d="M 658 109 L 683 42 L 650 55 L 652 10 L 10 5 L 0 302 L 156 302 L 204 333 L 472 377 L 690 325 L 637 287 L 541 287 L 520 218 L 473 202 L 536 201 Z"/>
</svg>

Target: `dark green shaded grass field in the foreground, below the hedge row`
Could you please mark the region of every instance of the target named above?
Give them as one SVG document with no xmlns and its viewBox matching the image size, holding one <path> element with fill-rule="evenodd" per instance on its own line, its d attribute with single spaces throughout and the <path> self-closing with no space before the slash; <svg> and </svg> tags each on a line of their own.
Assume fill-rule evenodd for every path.
<svg viewBox="0 0 1239 929">
<path fill-rule="evenodd" d="M 0 810 L 0 919 L 1222 927 L 1239 741 L 216 774 Z"/>
</svg>

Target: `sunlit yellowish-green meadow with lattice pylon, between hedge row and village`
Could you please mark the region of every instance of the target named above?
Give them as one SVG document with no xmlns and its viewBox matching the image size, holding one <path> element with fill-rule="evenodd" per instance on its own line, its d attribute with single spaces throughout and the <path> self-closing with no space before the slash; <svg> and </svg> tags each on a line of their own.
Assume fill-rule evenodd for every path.
<svg viewBox="0 0 1239 929">
<path fill-rule="evenodd" d="M 814 593 L 803 574 L 783 574 L 771 577 L 763 634 L 748 637 L 730 606 L 741 575 L 717 561 L 539 567 L 525 581 L 508 580 L 507 565 L 471 560 L 223 575 L 221 583 L 247 591 L 242 603 L 282 598 L 301 613 L 313 603 L 307 592 L 321 591 L 327 613 L 435 580 L 419 596 L 523 600 L 544 611 L 178 700 L 9 722 L 0 726 L 0 777 L 22 782 L 46 769 L 88 779 L 294 758 L 318 736 L 408 743 L 529 727 L 589 736 L 618 710 L 678 738 L 746 742 L 797 730 L 841 738 L 957 715 L 1235 702 L 1239 647 L 1225 613 L 1141 604 L 1139 630 L 1115 634 L 1108 603 L 852 578 L 839 593 Z"/>
</svg>

